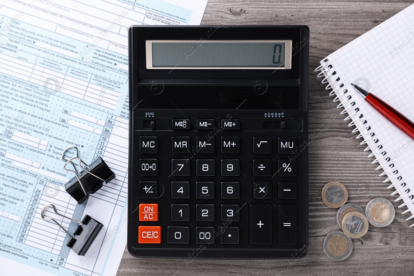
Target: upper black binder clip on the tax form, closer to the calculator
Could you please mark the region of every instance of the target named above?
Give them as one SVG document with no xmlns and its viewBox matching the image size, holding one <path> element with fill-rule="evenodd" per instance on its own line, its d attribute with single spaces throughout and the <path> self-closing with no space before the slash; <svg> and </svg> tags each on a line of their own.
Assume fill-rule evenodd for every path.
<svg viewBox="0 0 414 276">
<path fill-rule="evenodd" d="M 70 159 L 65 158 L 65 152 L 70 148 L 76 149 L 76 157 Z M 101 157 L 96 158 L 96 160 L 88 166 L 79 157 L 76 146 L 67 147 L 62 153 L 62 158 L 66 161 L 63 168 L 68 172 L 75 173 L 75 177 L 65 184 L 65 190 L 76 199 L 79 204 L 84 202 L 89 197 L 89 194 L 93 194 L 101 189 L 103 182 L 108 183 L 115 178 L 115 173 L 113 173 Z M 82 169 L 80 173 L 78 173 L 75 163 L 73 163 L 75 160 L 78 161 L 78 165 Z M 74 170 L 66 168 L 69 163 L 72 164 Z M 82 164 L 84 164 L 84 167 L 82 167 Z"/>
</svg>

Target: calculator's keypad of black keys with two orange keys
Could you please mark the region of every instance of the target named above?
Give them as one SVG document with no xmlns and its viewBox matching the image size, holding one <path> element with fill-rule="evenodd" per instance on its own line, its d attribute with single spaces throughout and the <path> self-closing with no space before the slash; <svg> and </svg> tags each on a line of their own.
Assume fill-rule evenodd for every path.
<svg viewBox="0 0 414 276">
<path fill-rule="evenodd" d="M 145 178 L 138 183 L 145 201 L 140 221 L 156 224 L 159 212 L 170 211 L 170 216 L 162 224 L 164 235 L 164 226 L 140 226 L 138 242 L 296 245 L 300 183 L 296 158 L 287 154 L 296 151 L 297 138 L 274 132 L 246 135 L 240 131 L 243 120 L 216 120 L 173 119 L 170 133 L 140 137 L 140 153 L 149 156 L 140 159 Z M 223 132 L 212 134 L 220 125 Z M 171 155 L 162 151 L 165 143 Z M 159 167 L 167 161 L 171 170 Z M 168 202 L 170 210 L 160 202 Z"/>
</svg>

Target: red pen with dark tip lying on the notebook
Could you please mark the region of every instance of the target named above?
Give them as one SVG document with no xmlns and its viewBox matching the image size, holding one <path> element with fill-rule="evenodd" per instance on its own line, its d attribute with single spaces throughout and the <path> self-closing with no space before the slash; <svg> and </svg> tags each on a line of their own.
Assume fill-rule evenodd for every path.
<svg viewBox="0 0 414 276">
<path fill-rule="evenodd" d="M 375 108 L 402 132 L 414 140 L 414 123 L 412 121 L 410 121 L 407 117 L 402 115 L 400 112 L 395 110 L 395 108 L 390 106 L 388 103 L 385 103 L 385 101 L 381 100 L 377 96 L 369 93 L 368 91 L 365 91 L 355 84 L 352 84 L 352 86 L 354 86 L 356 91 L 358 91 L 359 94 L 365 98 L 365 101 L 367 101 L 373 108 Z"/>
</svg>

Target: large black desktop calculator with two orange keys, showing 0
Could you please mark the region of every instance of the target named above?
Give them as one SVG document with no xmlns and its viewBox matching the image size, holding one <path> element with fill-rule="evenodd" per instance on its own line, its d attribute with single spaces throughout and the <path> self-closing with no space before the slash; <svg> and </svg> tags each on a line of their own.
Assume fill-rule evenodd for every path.
<svg viewBox="0 0 414 276">
<path fill-rule="evenodd" d="M 129 58 L 130 254 L 303 257 L 308 27 L 131 26 Z"/>
</svg>

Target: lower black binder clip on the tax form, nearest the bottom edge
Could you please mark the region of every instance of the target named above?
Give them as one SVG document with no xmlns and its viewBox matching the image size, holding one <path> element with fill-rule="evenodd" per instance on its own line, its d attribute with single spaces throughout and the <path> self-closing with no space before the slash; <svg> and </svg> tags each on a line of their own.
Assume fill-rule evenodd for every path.
<svg viewBox="0 0 414 276">
<path fill-rule="evenodd" d="M 49 206 L 52 206 L 53 211 L 55 211 L 55 213 L 58 214 L 59 216 L 63 216 L 64 218 L 69 218 L 65 215 L 58 213 L 55 205 L 53 204 L 47 204 L 46 206 L 43 207 L 42 214 L 41 214 L 42 218 L 50 219 L 54 221 L 58 226 L 60 226 L 60 228 L 65 230 L 67 235 L 70 236 L 70 239 L 67 242 L 66 246 L 72 248 L 72 250 L 75 251 L 76 254 L 78 254 L 79 256 L 84 256 L 85 253 L 88 251 L 89 247 L 91 247 L 92 242 L 94 242 L 96 236 L 99 234 L 99 231 L 101 231 L 103 224 L 91 218 L 91 216 L 89 215 L 85 215 L 82 221 L 77 221 L 73 218 L 69 218 L 72 221 L 76 221 L 77 223 L 80 223 L 80 225 L 78 226 L 78 228 L 76 228 L 73 235 L 70 235 L 70 233 L 67 232 L 67 230 L 62 225 L 60 225 L 60 223 L 55 221 L 54 218 L 45 218 L 45 210 Z"/>
</svg>

